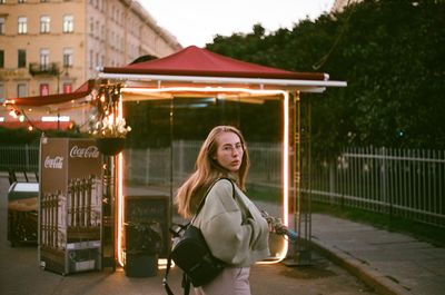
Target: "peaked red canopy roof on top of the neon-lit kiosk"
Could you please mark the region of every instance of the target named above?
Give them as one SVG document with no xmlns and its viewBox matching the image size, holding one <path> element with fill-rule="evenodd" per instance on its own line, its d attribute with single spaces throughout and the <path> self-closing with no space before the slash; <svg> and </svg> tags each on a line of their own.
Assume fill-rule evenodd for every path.
<svg viewBox="0 0 445 295">
<path fill-rule="evenodd" d="M 325 80 L 323 72 L 294 72 L 236 60 L 196 46 L 189 46 L 165 58 L 105 67 L 105 73 L 139 73 L 167 76 L 204 76 L 268 79 Z"/>
</svg>

